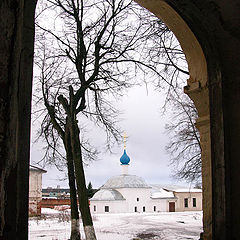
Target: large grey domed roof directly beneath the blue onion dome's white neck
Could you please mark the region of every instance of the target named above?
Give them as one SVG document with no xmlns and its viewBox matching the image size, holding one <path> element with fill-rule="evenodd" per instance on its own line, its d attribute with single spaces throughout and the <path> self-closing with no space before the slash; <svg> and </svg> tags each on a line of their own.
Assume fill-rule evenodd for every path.
<svg viewBox="0 0 240 240">
<path fill-rule="evenodd" d="M 135 175 L 119 175 L 110 178 L 101 189 L 118 188 L 151 188 L 143 178 Z"/>
</svg>

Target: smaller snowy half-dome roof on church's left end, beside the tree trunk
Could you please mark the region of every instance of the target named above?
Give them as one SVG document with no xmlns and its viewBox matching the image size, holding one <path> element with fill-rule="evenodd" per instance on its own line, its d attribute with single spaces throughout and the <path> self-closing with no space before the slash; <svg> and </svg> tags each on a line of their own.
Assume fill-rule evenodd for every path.
<svg viewBox="0 0 240 240">
<path fill-rule="evenodd" d="M 120 192 L 115 189 L 100 189 L 90 199 L 91 201 L 116 201 L 126 200 Z"/>
</svg>

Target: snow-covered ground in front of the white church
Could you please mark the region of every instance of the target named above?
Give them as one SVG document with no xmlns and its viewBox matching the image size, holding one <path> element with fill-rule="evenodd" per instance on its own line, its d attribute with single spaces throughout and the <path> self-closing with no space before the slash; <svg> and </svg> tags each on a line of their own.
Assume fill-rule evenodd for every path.
<svg viewBox="0 0 240 240">
<path fill-rule="evenodd" d="M 30 240 L 69 239 L 68 211 L 42 209 L 42 215 L 29 219 Z M 197 240 L 202 232 L 202 212 L 96 214 L 93 220 L 98 240 Z"/>
</svg>

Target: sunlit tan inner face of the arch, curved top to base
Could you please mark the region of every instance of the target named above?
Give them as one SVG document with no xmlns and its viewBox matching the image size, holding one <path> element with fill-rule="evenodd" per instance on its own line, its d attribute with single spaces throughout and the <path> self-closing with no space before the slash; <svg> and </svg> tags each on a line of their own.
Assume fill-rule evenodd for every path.
<svg viewBox="0 0 240 240">
<path fill-rule="evenodd" d="M 212 235 L 212 183 L 210 154 L 210 113 L 207 62 L 202 47 L 183 18 L 165 1 L 137 1 L 165 22 L 177 37 L 186 60 L 190 77 L 184 91 L 198 110 L 197 127 L 201 136 L 203 172 L 204 239 Z"/>
</svg>

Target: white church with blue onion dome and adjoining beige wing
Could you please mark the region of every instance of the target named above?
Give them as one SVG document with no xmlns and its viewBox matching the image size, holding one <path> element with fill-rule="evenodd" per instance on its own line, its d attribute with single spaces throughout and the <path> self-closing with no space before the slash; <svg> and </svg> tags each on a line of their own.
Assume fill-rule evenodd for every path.
<svg viewBox="0 0 240 240">
<path fill-rule="evenodd" d="M 149 185 L 128 174 L 130 158 L 124 149 L 122 174 L 114 176 L 90 199 L 92 213 L 175 212 L 202 210 L 202 190 Z"/>
</svg>

